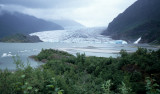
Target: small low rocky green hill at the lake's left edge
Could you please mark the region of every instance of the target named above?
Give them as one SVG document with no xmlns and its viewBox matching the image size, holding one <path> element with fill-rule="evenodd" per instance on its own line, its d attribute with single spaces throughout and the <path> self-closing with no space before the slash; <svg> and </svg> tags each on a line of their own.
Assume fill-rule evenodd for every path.
<svg viewBox="0 0 160 94">
<path fill-rule="evenodd" d="M 15 34 L 0 39 L 0 42 L 16 42 L 16 43 L 34 43 L 42 42 L 38 36 L 30 36 L 24 34 Z"/>
</svg>

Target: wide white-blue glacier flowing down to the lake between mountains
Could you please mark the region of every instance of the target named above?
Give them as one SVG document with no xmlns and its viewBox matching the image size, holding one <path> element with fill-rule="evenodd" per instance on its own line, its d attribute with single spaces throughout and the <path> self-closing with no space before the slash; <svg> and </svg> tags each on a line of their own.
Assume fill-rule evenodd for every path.
<svg viewBox="0 0 160 94">
<path fill-rule="evenodd" d="M 104 29 L 105 28 L 83 28 L 77 30 L 54 30 L 36 32 L 30 35 L 36 35 L 44 42 L 127 44 L 125 41 L 115 41 L 110 37 L 101 35 Z"/>
</svg>

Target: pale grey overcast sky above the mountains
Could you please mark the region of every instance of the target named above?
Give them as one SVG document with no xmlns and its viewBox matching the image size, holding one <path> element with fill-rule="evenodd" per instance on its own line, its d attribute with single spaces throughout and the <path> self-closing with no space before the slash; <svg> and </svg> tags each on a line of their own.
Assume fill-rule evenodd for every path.
<svg viewBox="0 0 160 94">
<path fill-rule="evenodd" d="M 0 0 L 0 7 L 46 20 L 72 19 L 81 24 L 107 26 L 137 0 Z"/>
</svg>

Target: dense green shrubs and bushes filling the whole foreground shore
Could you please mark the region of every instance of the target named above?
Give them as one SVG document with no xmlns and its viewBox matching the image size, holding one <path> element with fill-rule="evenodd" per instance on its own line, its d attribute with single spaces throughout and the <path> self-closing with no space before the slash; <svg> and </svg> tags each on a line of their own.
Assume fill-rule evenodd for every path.
<svg viewBox="0 0 160 94">
<path fill-rule="evenodd" d="M 0 71 L 0 92 L 145 94 L 153 90 L 159 91 L 160 50 L 138 48 L 134 53 L 122 50 L 120 54 L 117 58 L 88 57 L 85 54 L 73 56 L 63 51 L 42 49 L 35 56 L 35 59 L 45 61 L 42 67 L 32 68 L 29 64 L 24 67 L 22 61 L 15 58 L 16 71 Z M 157 84 L 148 80 L 146 84 L 145 78 L 148 76 L 154 78 L 154 83 Z"/>
</svg>

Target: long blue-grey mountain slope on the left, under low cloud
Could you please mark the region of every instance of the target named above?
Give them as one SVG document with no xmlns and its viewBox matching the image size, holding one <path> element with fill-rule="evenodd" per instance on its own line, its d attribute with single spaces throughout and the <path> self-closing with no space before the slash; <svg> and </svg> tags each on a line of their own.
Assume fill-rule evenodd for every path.
<svg viewBox="0 0 160 94">
<path fill-rule="evenodd" d="M 0 15 L 0 37 L 16 33 L 30 34 L 38 31 L 64 29 L 53 22 L 38 19 L 33 16 L 14 12 L 2 11 Z"/>
</svg>

